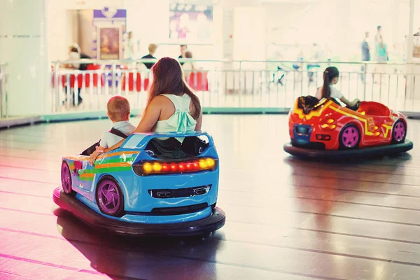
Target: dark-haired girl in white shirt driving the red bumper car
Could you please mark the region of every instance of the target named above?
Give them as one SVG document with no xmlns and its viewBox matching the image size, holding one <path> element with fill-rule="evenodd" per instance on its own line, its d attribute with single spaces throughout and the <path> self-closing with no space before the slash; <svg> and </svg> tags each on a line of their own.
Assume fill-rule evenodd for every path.
<svg viewBox="0 0 420 280">
<path fill-rule="evenodd" d="M 319 100 L 323 98 L 337 98 L 344 104 L 346 104 L 347 107 L 353 107 L 358 102 L 360 102 L 359 99 L 354 99 L 352 102 L 346 99 L 342 92 L 337 90 L 334 85 L 338 83 L 339 79 L 339 71 L 337 67 L 330 66 L 327 67 L 323 73 L 323 86 L 318 87 L 318 90 L 316 90 L 315 97 Z"/>
</svg>

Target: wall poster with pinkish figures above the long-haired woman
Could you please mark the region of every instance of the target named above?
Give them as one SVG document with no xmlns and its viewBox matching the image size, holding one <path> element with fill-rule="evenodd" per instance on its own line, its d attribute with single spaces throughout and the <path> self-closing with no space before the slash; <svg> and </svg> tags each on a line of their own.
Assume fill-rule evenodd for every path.
<svg viewBox="0 0 420 280">
<path fill-rule="evenodd" d="M 213 37 L 213 6 L 172 3 L 169 38 L 174 41 L 210 42 Z"/>
</svg>

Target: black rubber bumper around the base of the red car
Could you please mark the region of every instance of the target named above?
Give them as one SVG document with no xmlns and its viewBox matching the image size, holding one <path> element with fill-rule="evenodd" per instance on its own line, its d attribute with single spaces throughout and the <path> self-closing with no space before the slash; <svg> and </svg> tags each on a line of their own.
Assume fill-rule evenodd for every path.
<svg viewBox="0 0 420 280">
<path fill-rule="evenodd" d="M 286 143 L 283 150 L 290 155 L 300 158 L 318 158 L 318 159 L 343 159 L 343 158 L 360 158 L 379 155 L 397 155 L 405 153 L 413 148 L 413 142 L 405 140 L 400 144 L 391 144 L 386 146 L 377 146 L 372 148 L 360 148 L 353 150 L 316 150 L 309 148 L 300 148 Z"/>
</svg>

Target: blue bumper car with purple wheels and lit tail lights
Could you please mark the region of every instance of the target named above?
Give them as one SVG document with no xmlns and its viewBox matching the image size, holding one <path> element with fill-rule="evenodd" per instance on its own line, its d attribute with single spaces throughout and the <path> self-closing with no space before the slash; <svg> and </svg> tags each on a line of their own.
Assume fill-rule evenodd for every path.
<svg viewBox="0 0 420 280">
<path fill-rule="evenodd" d="M 205 132 L 132 134 L 94 166 L 88 158 L 63 158 L 62 186 L 53 199 L 94 228 L 120 235 L 186 236 L 225 224 L 225 213 L 216 207 L 218 154 Z"/>
</svg>

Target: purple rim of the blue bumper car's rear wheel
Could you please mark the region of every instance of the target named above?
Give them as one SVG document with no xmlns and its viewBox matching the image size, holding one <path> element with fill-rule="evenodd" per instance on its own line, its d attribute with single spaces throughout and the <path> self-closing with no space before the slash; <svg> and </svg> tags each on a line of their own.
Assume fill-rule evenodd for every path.
<svg viewBox="0 0 420 280">
<path fill-rule="evenodd" d="M 97 190 L 99 208 L 107 215 L 116 214 L 121 198 L 118 186 L 111 180 L 102 181 Z"/>
</svg>

